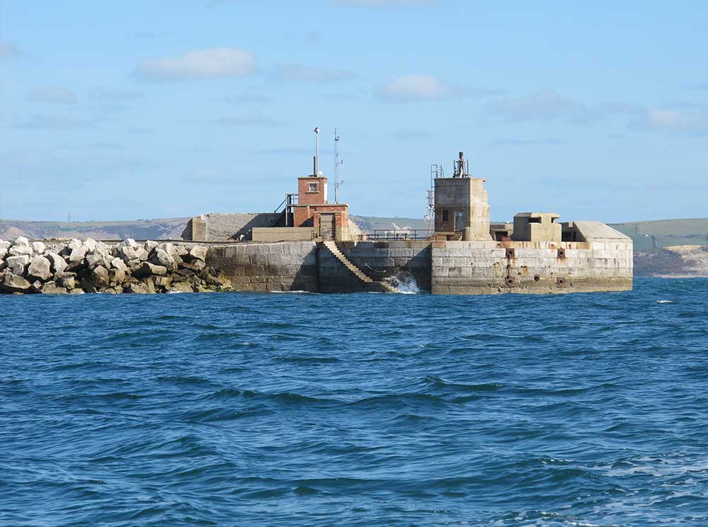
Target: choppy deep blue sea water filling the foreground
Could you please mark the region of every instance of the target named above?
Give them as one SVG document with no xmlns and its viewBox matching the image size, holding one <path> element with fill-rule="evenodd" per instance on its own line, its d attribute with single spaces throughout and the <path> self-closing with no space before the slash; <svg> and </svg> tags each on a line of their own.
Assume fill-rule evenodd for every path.
<svg viewBox="0 0 708 527">
<path fill-rule="evenodd" d="M 1 526 L 708 525 L 708 280 L 0 308 Z"/>
</svg>

